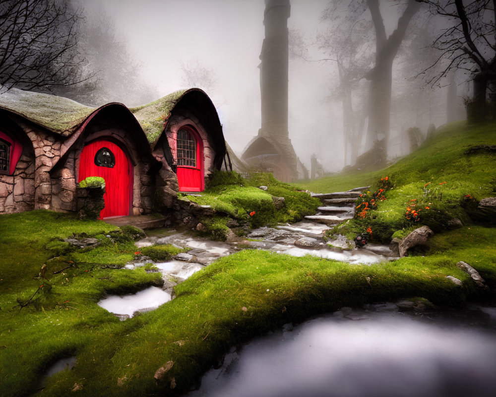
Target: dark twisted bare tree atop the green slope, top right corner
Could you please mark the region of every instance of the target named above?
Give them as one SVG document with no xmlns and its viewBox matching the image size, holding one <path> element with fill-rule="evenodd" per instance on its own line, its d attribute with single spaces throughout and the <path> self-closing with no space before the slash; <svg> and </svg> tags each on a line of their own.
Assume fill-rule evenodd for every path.
<svg viewBox="0 0 496 397">
<path fill-rule="evenodd" d="M 447 26 L 433 43 L 440 55 L 431 67 L 441 65 L 441 71 L 429 83 L 437 83 L 452 69 L 467 72 L 474 82 L 474 119 L 484 120 L 488 86 L 496 80 L 496 0 L 419 1 L 444 17 Z"/>
</svg>

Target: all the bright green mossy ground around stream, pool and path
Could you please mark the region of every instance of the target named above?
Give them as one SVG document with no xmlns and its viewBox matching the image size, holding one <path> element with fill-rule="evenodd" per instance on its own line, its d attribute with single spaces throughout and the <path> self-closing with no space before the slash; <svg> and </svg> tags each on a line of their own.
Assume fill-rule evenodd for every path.
<svg viewBox="0 0 496 397">
<path fill-rule="evenodd" d="M 359 208 L 364 217 L 334 232 L 370 228 L 374 239 L 388 241 L 431 224 L 436 234 L 423 252 L 349 265 L 244 250 L 179 284 L 173 301 L 124 322 L 97 301 L 160 283 L 159 273 L 146 271 L 152 266 L 122 269 L 135 257 L 136 230 L 50 211 L 0 215 L 0 394 L 32 395 L 51 364 L 75 355 L 75 366 L 48 379 L 40 396 L 178 396 L 230 346 L 312 314 L 400 298 L 453 307 L 468 299 L 494 299 L 496 227 L 491 214 L 477 209 L 477 200 L 496 195 L 490 146 L 496 144 L 495 130 L 453 124 L 381 172 L 301 186 L 328 192 L 372 184 L 362 201 L 372 208 L 374 199 L 376 209 Z M 202 197 L 183 198 L 219 211 L 207 224 L 211 235 L 229 221 L 242 228 L 298 220 L 316 206 L 307 194 L 265 174 L 249 181 L 226 174 L 216 178 Z M 257 189 L 260 185 L 268 190 Z M 285 205 L 276 208 L 272 196 L 285 197 Z M 455 218 L 462 225 L 450 223 Z M 63 241 L 73 235 L 95 237 L 100 245 L 78 249 Z M 174 249 L 155 248 L 155 254 L 165 258 Z M 490 290 L 477 288 L 458 261 L 475 267 Z"/>
</svg>

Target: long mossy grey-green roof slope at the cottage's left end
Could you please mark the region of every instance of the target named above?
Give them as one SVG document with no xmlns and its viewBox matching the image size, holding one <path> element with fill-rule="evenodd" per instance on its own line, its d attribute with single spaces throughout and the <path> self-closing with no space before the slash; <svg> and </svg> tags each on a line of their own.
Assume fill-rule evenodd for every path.
<svg viewBox="0 0 496 397">
<path fill-rule="evenodd" d="M 76 131 L 96 110 L 68 98 L 17 88 L 0 94 L 0 109 L 64 136 Z"/>
</svg>

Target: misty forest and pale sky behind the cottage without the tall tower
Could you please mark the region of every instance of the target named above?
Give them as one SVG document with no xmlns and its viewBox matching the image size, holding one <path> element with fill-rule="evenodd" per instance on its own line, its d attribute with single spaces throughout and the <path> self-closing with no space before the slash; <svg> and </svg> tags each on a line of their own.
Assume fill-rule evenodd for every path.
<svg viewBox="0 0 496 397">
<path fill-rule="evenodd" d="M 264 1 L 0 4 L 0 82 L 100 106 L 212 98 L 241 154 L 260 127 Z M 382 167 L 434 127 L 491 118 L 494 1 L 292 0 L 289 134 L 325 172 Z M 482 98 L 482 99 L 481 99 Z M 482 101 L 482 102 L 481 102 Z M 480 113 L 482 111 L 482 113 Z"/>
</svg>

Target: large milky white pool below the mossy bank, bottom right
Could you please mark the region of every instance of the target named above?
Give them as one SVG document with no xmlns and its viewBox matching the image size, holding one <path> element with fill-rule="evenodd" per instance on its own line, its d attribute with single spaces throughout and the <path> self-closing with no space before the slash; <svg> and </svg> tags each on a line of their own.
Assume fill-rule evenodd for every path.
<svg viewBox="0 0 496 397">
<path fill-rule="evenodd" d="M 242 348 L 188 397 L 492 397 L 496 334 L 360 311 L 291 324 Z"/>
</svg>

